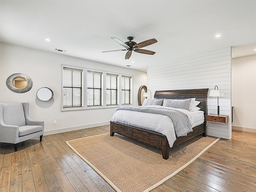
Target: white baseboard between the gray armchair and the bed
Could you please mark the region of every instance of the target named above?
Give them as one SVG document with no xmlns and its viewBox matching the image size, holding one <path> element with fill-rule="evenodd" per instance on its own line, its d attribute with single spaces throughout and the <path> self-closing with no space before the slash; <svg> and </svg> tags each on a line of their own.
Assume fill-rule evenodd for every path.
<svg viewBox="0 0 256 192">
<path fill-rule="evenodd" d="M 110 122 L 102 122 L 102 123 L 82 125 L 82 126 L 76 126 L 76 127 L 68 127 L 68 128 L 63 128 L 63 129 L 48 130 L 48 131 L 44 131 L 44 135 L 52 135 L 52 134 L 57 134 L 57 133 L 86 129 L 86 128 L 91 128 L 91 127 L 98 127 L 98 126 L 109 125 L 109 124 L 110 124 Z"/>
</svg>

